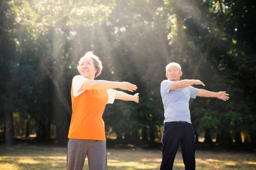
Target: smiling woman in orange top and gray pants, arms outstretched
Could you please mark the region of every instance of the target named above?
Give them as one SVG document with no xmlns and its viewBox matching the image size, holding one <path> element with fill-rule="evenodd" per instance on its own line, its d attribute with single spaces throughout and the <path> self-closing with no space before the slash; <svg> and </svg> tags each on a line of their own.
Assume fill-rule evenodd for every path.
<svg viewBox="0 0 256 170">
<path fill-rule="evenodd" d="M 90 170 L 107 170 L 105 125 L 102 114 L 115 99 L 138 102 L 138 93 L 128 95 L 113 90 L 133 92 L 136 85 L 129 82 L 94 80 L 100 75 L 102 62 L 93 52 L 80 58 L 71 87 L 72 118 L 67 146 L 67 170 L 82 170 L 86 155 Z"/>
</svg>

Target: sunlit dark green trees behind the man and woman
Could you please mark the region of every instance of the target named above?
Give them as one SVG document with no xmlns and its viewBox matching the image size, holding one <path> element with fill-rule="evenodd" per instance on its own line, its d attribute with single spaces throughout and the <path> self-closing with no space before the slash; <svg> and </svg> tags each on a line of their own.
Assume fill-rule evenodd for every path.
<svg viewBox="0 0 256 170">
<path fill-rule="evenodd" d="M 161 150 L 160 84 L 178 62 L 182 79 L 230 94 L 190 100 L 197 148 L 255 153 L 255 16 L 253 0 L 2 0 L 1 147 L 67 143 L 72 77 L 92 50 L 103 63 L 96 80 L 128 81 L 140 94 L 138 104 L 106 106 L 110 148 Z"/>
</svg>

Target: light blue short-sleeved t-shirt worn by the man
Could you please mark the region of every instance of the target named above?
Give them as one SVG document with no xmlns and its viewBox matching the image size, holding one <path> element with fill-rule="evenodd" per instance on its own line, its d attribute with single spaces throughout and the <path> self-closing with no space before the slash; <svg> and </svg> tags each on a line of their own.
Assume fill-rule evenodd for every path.
<svg viewBox="0 0 256 170">
<path fill-rule="evenodd" d="M 174 81 L 161 82 L 161 97 L 164 104 L 164 122 L 186 121 L 191 123 L 189 99 L 196 98 L 198 89 L 192 86 L 170 90 Z"/>
</svg>

